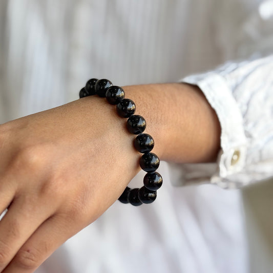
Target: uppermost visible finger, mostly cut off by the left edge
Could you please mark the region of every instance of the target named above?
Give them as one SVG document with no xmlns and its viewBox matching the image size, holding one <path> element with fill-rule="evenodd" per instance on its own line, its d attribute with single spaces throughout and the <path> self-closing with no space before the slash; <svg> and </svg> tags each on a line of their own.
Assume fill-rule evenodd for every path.
<svg viewBox="0 0 273 273">
<path fill-rule="evenodd" d="M 15 181 L 14 177 L 9 174 L 0 178 L 0 215 L 10 205 L 16 193 L 16 186 L 12 181 Z"/>
</svg>

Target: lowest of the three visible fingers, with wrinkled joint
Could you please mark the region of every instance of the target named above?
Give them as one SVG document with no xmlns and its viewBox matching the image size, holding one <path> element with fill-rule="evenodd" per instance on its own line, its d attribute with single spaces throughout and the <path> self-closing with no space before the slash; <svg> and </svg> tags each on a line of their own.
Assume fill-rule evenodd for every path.
<svg viewBox="0 0 273 273">
<path fill-rule="evenodd" d="M 77 233 L 68 221 L 54 215 L 39 226 L 2 273 L 32 273 L 61 244 Z M 65 231 L 65 232 L 64 232 Z"/>
</svg>

